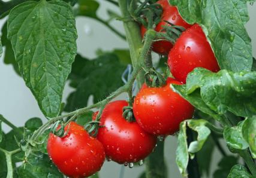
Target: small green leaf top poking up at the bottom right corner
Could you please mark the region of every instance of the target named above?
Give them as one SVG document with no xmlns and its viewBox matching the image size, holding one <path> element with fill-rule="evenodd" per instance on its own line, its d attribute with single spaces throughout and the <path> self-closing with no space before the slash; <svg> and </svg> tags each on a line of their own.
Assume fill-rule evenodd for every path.
<svg viewBox="0 0 256 178">
<path fill-rule="evenodd" d="M 231 168 L 230 174 L 228 174 L 227 178 L 237 178 L 237 177 L 253 178 L 253 176 L 248 173 L 248 170 L 243 165 L 240 165 L 240 164 L 234 165 Z"/>
</svg>

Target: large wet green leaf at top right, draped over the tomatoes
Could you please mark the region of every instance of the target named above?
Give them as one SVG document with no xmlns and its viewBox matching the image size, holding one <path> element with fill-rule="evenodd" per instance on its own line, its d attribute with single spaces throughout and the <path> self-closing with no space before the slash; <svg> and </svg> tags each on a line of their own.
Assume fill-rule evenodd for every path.
<svg viewBox="0 0 256 178">
<path fill-rule="evenodd" d="M 234 72 L 251 70 L 252 45 L 245 29 L 248 22 L 246 1 L 169 0 L 190 24 L 203 25 L 221 69 Z"/>
</svg>

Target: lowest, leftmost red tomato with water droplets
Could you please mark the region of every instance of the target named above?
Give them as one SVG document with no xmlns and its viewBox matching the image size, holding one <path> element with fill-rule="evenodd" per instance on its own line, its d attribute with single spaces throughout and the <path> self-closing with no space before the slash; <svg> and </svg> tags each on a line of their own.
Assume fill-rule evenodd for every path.
<svg viewBox="0 0 256 178">
<path fill-rule="evenodd" d="M 47 151 L 53 163 L 68 177 L 91 176 L 100 171 L 105 160 L 103 145 L 76 122 L 70 123 L 65 137 L 50 133 Z"/>
</svg>

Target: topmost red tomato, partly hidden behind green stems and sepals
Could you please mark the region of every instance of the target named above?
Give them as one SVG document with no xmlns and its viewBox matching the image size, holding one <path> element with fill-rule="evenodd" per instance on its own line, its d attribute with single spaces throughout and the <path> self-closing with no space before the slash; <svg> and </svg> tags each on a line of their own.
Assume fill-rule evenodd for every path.
<svg viewBox="0 0 256 178">
<path fill-rule="evenodd" d="M 160 0 L 156 3 L 160 4 L 163 10 L 162 18 L 161 18 L 162 21 L 159 22 L 155 27 L 156 32 L 160 32 L 160 30 L 162 30 L 162 26 L 166 25 L 166 22 L 164 22 L 164 20 L 178 26 L 183 26 L 185 27 L 185 29 L 191 26 L 191 24 L 186 23 L 182 19 L 177 8 L 174 6 L 171 6 L 167 0 Z M 146 30 L 147 29 L 144 26 L 141 26 L 141 36 L 144 36 L 144 34 L 146 33 Z M 152 50 L 155 51 L 156 53 L 159 53 L 162 55 L 168 55 L 169 51 L 173 47 L 173 44 L 171 44 L 171 42 L 169 41 L 163 40 L 163 41 L 154 42 L 152 47 L 153 47 Z"/>
</svg>

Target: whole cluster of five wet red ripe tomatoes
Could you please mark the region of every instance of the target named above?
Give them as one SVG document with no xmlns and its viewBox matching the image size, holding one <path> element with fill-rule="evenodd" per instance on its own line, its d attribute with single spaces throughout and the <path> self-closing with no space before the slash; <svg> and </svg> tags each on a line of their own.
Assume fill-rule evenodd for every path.
<svg viewBox="0 0 256 178">
<path fill-rule="evenodd" d="M 47 151 L 59 170 L 69 177 L 88 177 L 99 171 L 105 158 L 119 164 L 130 165 L 148 156 L 156 145 L 157 136 L 167 136 L 179 130 L 179 124 L 191 118 L 193 106 L 171 90 L 170 84 L 186 82 L 186 76 L 195 67 L 204 67 L 216 72 L 218 63 L 203 30 L 198 24 L 190 25 L 179 15 L 177 8 L 167 0 L 157 2 L 162 5 L 162 22 L 155 30 L 160 32 L 164 20 L 183 26 L 185 32 L 173 45 L 168 41 L 156 41 L 152 49 L 156 53 L 168 55 L 168 66 L 174 78 L 167 78 L 162 87 L 141 87 L 133 103 L 136 122 L 128 122 L 123 117 L 124 100 L 111 102 L 103 110 L 97 138 L 89 136 L 86 130 L 71 122 L 68 134 L 58 137 L 50 134 Z M 144 35 L 146 29 L 141 27 Z M 95 119 L 97 112 L 93 116 Z"/>
</svg>

